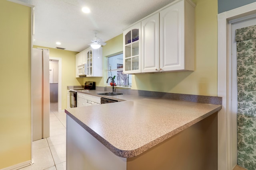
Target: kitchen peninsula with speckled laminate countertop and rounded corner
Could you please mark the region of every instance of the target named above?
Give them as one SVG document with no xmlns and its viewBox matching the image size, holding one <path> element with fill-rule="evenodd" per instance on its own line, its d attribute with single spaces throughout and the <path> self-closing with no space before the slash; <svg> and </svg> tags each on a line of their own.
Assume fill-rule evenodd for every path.
<svg viewBox="0 0 256 170">
<path fill-rule="evenodd" d="M 97 90 L 83 93 L 100 96 Z M 127 94 L 111 98 L 122 102 L 65 110 L 67 169 L 217 169 L 221 105 Z"/>
</svg>

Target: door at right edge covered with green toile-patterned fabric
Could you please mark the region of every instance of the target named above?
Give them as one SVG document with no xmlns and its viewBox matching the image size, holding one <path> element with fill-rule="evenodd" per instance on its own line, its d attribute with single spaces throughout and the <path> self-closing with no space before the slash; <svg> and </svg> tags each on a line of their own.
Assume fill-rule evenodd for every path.
<svg viewBox="0 0 256 170">
<path fill-rule="evenodd" d="M 237 164 L 256 169 L 255 25 L 256 15 L 230 21 L 232 24 L 233 134 L 237 132 Z"/>
</svg>

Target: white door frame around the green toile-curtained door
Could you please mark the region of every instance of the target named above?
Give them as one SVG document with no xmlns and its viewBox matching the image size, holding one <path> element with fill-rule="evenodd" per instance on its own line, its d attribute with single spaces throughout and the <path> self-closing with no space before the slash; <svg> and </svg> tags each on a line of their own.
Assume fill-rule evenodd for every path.
<svg viewBox="0 0 256 170">
<path fill-rule="evenodd" d="M 256 13 L 256 2 L 218 14 L 218 96 L 222 109 L 218 113 L 218 169 L 232 170 L 237 164 L 234 100 L 232 100 L 232 23 L 230 21 Z M 235 101 L 236 102 L 236 101 Z M 235 141 L 234 141 L 235 140 Z"/>
</svg>

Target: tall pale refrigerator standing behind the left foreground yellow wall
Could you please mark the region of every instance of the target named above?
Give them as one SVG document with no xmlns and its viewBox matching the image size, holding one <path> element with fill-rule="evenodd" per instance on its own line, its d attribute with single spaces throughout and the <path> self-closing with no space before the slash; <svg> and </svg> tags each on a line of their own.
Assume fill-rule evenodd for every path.
<svg viewBox="0 0 256 170">
<path fill-rule="evenodd" d="M 32 50 L 31 109 L 32 141 L 50 137 L 49 50 Z"/>
</svg>

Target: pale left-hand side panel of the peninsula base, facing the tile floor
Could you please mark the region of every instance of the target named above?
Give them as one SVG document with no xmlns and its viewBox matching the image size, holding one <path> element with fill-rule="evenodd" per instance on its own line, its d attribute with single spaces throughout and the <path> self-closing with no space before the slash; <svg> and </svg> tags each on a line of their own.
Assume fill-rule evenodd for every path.
<svg viewBox="0 0 256 170">
<path fill-rule="evenodd" d="M 127 158 L 113 154 L 68 115 L 66 146 L 67 170 L 127 170 Z"/>
</svg>

